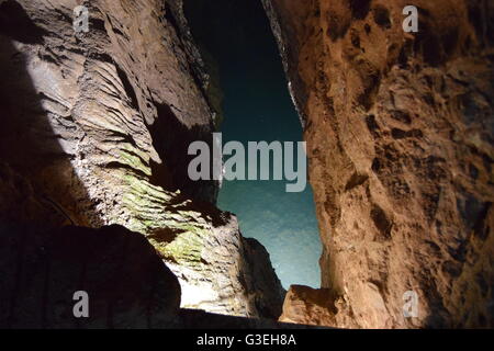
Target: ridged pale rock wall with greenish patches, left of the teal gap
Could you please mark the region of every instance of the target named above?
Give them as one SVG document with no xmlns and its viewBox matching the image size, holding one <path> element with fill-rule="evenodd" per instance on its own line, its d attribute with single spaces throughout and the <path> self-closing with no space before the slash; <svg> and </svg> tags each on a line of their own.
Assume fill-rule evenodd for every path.
<svg viewBox="0 0 494 351">
<path fill-rule="evenodd" d="M 0 2 L 0 219 L 122 225 L 182 284 L 209 282 L 182 305 L 277 318 L 279 290 L 258 290 L 263 276 L 280 286 L 268 257 L 249 265 L 236 219 L 212 205 L 217 182 L 187 174 L 215 113 L 181 1 L 85 2 L 88 32 L 72 26 L 79 2 Z"/>
</svg>

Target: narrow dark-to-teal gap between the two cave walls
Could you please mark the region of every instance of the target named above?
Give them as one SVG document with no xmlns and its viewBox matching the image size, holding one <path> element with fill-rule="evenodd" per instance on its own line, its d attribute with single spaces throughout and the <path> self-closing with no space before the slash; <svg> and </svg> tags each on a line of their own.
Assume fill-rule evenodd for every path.
<svg viewBox="0 0 494 351">
<path fill-rule="evenodd" d="M 191 0 L 186 15 L 223 99 L 223 144 L 302 140 L 274 37 L 260 1 Z M 283 286 L 319 286 L 321 240 L 310 184 L 287 193 L 285 181 L 224 181 L 218 206 L 238 216 L 246 237 L 266 246 Z"/>
</svg>

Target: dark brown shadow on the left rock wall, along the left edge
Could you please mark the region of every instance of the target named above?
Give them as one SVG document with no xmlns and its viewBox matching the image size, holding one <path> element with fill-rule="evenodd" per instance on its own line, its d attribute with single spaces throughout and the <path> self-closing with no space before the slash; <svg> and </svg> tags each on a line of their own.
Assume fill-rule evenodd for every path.
<svg viewBox="0 0 494 351">
<path fill-rule="evenodd" d="M 80 199 L 89 199 L 87 191 L 42 105 L 49 98 L 36 91 L 25 54 L 13 45 L 29 45 L 24 49 L 30 52 L 31 45 L 44 42 L 44 34 L 19 3 L 0 5 L 0 218 L 45 225 L 98 223 L 88 208 L 78 211 Z M 67 188 L 70 192 L 60 192 Z"/>
</svg>

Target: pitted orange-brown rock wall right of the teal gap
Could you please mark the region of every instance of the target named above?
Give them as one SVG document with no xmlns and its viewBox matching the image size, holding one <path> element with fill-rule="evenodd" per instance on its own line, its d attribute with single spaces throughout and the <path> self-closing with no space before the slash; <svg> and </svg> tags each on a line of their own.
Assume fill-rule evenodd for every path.
<svg viewBox="0 0 494 351">
<path fill-rule="evenodd" d="M 493 327 L 494 5 L 408 2 L 263 0 L 305 127 L 323 287 L 358 327 Z"/>
</svg>

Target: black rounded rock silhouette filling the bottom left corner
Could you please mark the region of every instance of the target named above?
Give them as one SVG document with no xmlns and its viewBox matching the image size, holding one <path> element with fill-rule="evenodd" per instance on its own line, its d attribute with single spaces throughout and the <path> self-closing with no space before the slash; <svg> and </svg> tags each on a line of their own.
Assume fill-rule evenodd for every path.
<svg viewBox="0 0 494 351">
<path fill-rule="evenodd" d="M 0 328 L 170 328 L 180 285 L 144 236 L 121 226 L 0 224 Z M 88 316 L 74 309 L 88 294 Z M 76 307 L 75 307 L 76 306 Z"/>
</svg>

